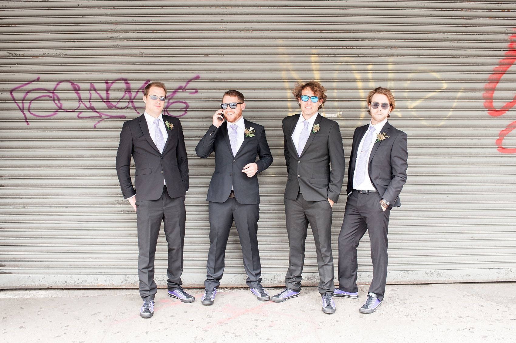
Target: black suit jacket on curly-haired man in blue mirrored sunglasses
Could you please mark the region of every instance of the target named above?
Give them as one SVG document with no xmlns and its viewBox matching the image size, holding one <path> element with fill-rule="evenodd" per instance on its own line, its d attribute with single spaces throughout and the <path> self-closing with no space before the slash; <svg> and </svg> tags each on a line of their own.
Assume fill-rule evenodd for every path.
<svg viewBox="0 0 516 343">
<path fill-rule="evenodd" d="M 337 202 L 346 167 L 338 123 L 317 114 L 314 125 L 319 124 L 319 130 L 314 133 L 312 127 L 301 156 L 298 156 L 292 133 L 299 116 L 300 114 L 283 119 L 285 162 L 288 172 L 285 198 L 296 200 L 301 189 L 304 200 L 331 199 Z"/>
</svg>

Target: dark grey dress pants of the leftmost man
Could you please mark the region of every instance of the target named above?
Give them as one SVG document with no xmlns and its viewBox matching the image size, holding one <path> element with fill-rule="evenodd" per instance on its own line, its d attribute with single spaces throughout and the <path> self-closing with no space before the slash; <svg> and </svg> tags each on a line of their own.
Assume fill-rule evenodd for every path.
<svg viewBox="0 0 516 343">
<path fill-rule="evenodd" d="M 136 196 L 138 199 L 138 195 Z M 138 224 L 138 276 L 140 296 L 143 300 L 154 299 L 157 285 L 154 282 L 154 255 L 161 222 L 165 225 L 168 243 L 167 286 L 179 288 L 183 273 L 183 243 L 185 239 L 185 197 L 170 198 L 166 186 L 158 200 L 136 201 Z"/>
</svg>

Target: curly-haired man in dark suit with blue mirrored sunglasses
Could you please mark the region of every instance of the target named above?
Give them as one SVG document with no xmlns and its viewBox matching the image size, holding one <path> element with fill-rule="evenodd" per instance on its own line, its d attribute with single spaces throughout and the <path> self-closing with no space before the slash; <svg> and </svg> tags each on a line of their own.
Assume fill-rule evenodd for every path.
<svg viewBox="0 0 516 343">
<path fill-rule="evenodd" d="M 338 123 L 322 117 L 326 89 L 316 81 L 297 83 L 292 91 L 301 114 L 283 119 L 285 162 L 285 215 L 290 248 L 286 288 L 271 300 L 283 302 L 299 296 L 308 224 L 312 227 L 319 269 L 322 312 L 334 313 L 331 252 L 332 206 L 344 179 L 344 150 Z M 330 168 L 331 163 L 331 168 Z"/>
</svg>

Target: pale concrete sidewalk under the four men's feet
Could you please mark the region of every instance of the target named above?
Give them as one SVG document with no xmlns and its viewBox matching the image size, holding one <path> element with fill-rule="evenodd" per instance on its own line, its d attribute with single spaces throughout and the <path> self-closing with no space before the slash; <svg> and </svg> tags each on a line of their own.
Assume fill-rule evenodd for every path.
<svg viewBox="0 0 516 343">
<path fill-rule="evenodd" d="M 388 285 L 376 313 L 359 299 L 335 298 L 321 311 L 315 287 L 284 303 L 260 302 L 247 288 L 220 288 L 214 305 L 203 289 L 190 304 L 159 289 L 154 316 L 139 316 L 133 289 L 3 290 L 0 341 L 33 342 L 515 342 L 516 283 Z M 280 288 L 268 288 L 271 295 Z"/>
</svg>

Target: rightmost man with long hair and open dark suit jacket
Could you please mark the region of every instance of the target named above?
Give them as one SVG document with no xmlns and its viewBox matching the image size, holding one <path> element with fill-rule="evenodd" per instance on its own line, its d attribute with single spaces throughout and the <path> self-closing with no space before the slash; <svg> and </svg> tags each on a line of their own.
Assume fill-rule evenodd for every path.
<svg viewBox="0 0 516 343">
<path fill-rule="evenodd" d="M 378 87 L 367 95 L 369 124 L 353 134 L 349 159 L 348 198 L 338 235 L 337 297 L 358 298 L 357 247 L 369 232 L 373 281 L 361 313 L 373 313 L 383 301 L 387 279 L 387 233 L 393 206 L 407 181 L 407 134 L 388 121 L 395 101 L 391 91 Z"/>
</svg>

